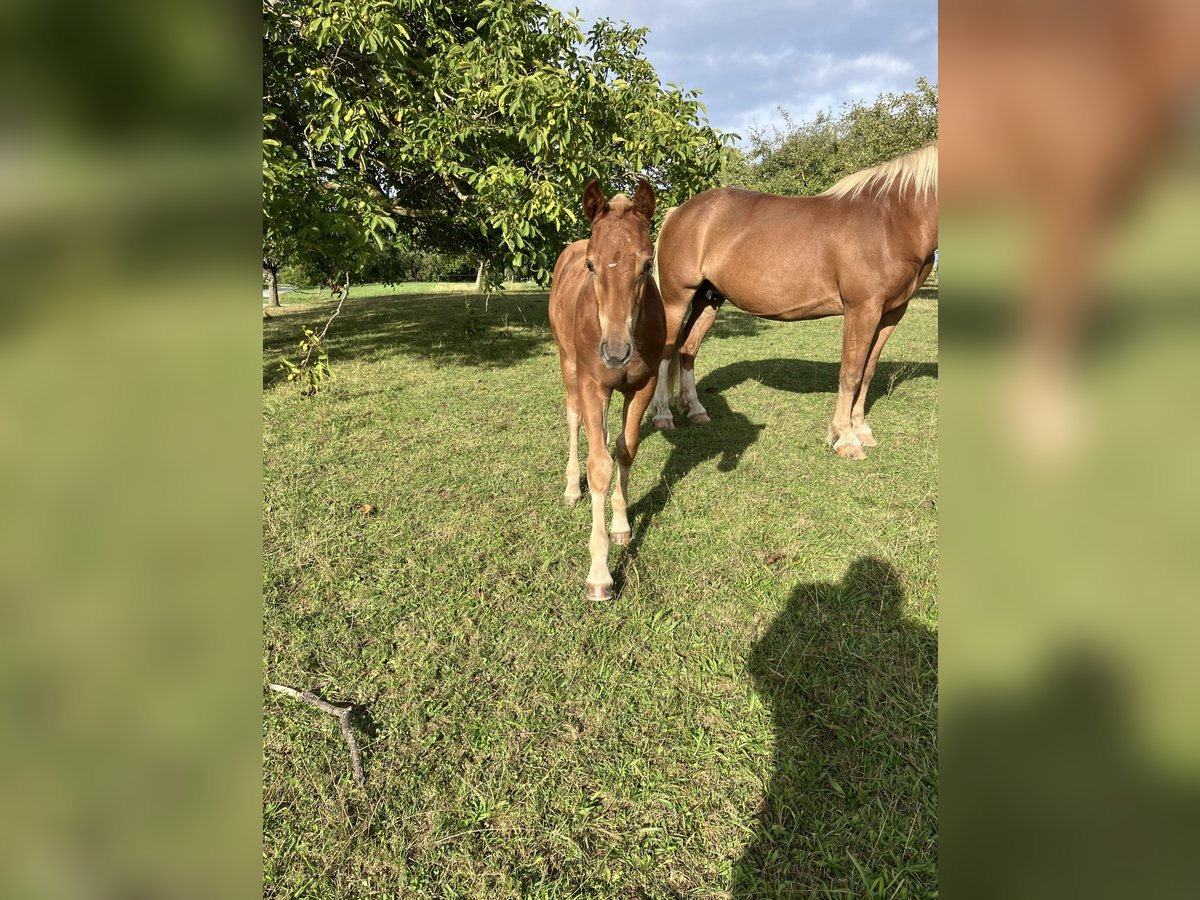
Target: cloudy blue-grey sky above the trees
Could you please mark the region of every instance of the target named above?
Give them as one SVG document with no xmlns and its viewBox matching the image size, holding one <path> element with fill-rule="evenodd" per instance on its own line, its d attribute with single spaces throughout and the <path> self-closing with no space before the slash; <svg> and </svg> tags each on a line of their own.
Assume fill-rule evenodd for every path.
<svg viewBox="0 0 1200 900">
<path fill-rule="evenodd" d="M 598 18 L 648 25 L 662 84 L 702 90 L 708 121 L 743 140 L 842 103 L 937 82 L 937 0 L 558 0 Z"/>
</svg>

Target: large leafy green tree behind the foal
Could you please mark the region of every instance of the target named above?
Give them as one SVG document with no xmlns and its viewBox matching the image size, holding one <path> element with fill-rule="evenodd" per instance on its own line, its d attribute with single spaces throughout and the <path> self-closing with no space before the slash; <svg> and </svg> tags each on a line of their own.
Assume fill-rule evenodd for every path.
<svg viewBox="0 0 1200 900">
<path fill-rule="evenodd" d="M 646 174 L 665 208 L 721 170 L 646 34 L 541 0 L 264 0 L 264 247 L 332 277 L 400 235 L 548 278 L 592 178 Z"/>
</svg>

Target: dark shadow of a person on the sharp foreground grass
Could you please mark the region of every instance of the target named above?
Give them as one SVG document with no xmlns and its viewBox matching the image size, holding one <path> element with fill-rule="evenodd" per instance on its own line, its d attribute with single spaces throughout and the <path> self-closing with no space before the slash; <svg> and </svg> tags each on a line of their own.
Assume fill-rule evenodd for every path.
<svg viewBox="0 0 1200 900">
<path fill-rule="evenodd" d="M 750 650 L 775 732 L 734 898 L 937 889 L 937 635 L 904 617 L 892 565 L 798 584 Z"/>
</svg>

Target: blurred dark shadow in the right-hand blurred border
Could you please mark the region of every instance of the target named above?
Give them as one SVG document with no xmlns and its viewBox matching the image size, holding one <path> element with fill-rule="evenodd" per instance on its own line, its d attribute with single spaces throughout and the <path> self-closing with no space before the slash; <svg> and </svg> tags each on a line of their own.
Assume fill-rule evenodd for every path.
<svg viewBox="0 0 1200 900">
<path fill-rule="evenodd" d="M 1156 754 L 1163 732 L 1136 696 L 1146 673 L 1126 654 L 1063 644 L 1039 678 L 946 712 L 948 896 L 1195 895 L 1200 778 Z"/>
</svg>

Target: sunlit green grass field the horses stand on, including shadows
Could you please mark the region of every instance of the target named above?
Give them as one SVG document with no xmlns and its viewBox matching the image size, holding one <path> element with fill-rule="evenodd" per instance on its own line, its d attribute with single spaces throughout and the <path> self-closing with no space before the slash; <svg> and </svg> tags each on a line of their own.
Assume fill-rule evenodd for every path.
<svg viewBox="0 0 1200 900">
<path fill-rule="evenodd" d="M 546 295 L 356 292 L 305 398 L 272 361 L 330 308 L 264 323 L 263 666 L 361 704 L 367 785 L 264 684 L 268 896 L 936 893 L 932 289 L 862 463 L 824 444 L 841 319 L 726 306 L 602 604 Z"/>
</svg>

